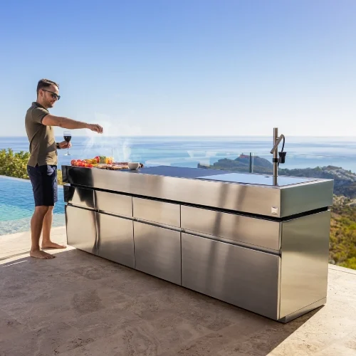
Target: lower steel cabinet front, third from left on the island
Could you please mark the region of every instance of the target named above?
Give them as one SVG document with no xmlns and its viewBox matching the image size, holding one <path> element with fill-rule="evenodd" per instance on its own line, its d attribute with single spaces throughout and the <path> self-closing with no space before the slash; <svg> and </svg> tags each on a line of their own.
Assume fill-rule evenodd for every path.
<svg viewBox="0 0 356 356">
<path fill-rule="evenodd" d="M 135 268 L 181 284 L 180 232 L 134 221 Z"/>
</svg>

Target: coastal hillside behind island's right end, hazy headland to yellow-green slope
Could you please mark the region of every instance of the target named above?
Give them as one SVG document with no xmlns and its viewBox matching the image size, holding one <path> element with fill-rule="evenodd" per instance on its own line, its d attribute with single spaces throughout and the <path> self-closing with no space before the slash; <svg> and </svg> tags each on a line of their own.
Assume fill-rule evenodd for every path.
<svg viewBox="0 0 356 356">
<path fill-rule="evenodd" d="M 219 159 L 211 166 L 200 168 L 249 172 L 249 156 Z M 281 167 L 281 166 L 280 166 Z M 282 166 L 283 167 L 283 166 Z M 273 164 L 262 157 L 253 157 L 253 172 L 272 174 Z M 334 199 L 331 212 L 329 262 L 356 269 L 356 174 L 341 167 L 278 169 L 278 174 L 291 177 L 334 179 Z"/>
</svg>

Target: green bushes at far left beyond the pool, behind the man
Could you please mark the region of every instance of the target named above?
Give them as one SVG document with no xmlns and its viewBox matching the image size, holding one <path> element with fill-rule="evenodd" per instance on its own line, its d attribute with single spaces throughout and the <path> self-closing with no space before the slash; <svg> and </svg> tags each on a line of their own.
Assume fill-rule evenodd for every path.
<svg viewBox="0 0 356 356">
<path fill-rule="evenodd" d="M 29 152 L 14 153 L 11 148 L 9 150 L 0 150 L 0 175 L 29 179 L 27 174 L 29 157 Z M 61 170 L 58 170 L 58 184 L 63 184 Z"/>
</svg>

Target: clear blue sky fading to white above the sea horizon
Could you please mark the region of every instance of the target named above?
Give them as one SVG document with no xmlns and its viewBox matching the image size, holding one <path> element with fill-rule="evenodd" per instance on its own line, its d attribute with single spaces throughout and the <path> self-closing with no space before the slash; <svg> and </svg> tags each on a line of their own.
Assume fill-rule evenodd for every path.
<svg viewBox="0 0 356 356">
<path fill-rule="evenodd" d="M 356 136 L 355 19 L 355 0 L 1 1 L 0 136 L 26 135 L 40 78 L 53 115 L 105 135 Z"/>
</svg>

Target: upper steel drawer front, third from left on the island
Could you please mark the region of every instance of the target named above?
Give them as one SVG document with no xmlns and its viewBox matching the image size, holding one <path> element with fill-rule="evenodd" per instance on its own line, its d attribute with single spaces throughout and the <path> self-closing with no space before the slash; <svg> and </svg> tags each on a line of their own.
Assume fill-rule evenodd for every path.
<svg viewBox="0 0 356 356">
<path fill-rule="evenodd" d="M 159 224 L 180 226 L 180 206 L 163 201 L 132 198 L 133 216 Z"/>
</svg>

